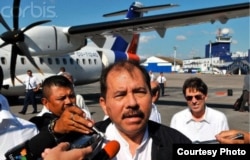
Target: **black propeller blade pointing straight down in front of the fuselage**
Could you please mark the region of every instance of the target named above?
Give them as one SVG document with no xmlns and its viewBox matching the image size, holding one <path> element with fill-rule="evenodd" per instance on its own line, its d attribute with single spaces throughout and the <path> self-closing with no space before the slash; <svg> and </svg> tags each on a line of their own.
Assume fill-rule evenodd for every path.
<svg viewBox="0 0 250 160">
<path fill-rule="evenodd" d="M 18 48 L 16 45 L 12 45 L 11 49 L 11 59 L 10 59 L 10 78 L 13 86 L 15 86 L 15 75 L 16 75 L 16 59 L 17 59 L 17 53 Z"/>
</svg>

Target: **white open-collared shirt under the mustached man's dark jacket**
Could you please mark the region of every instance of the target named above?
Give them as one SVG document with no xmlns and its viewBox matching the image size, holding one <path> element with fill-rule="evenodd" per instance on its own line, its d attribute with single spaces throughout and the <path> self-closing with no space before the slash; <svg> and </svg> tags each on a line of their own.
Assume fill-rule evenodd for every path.
<svg viewBox="0 0 250 160">
<path fill-rule="evenodd" d="M 130 153 L 129 144 L 119 134 L 113 123 L 110 123 L 107 127 L 105 136 L 107 140 L 116 140 L 120 144 L 120 150 L 116 154 L 116 157 L 112 160 L 151 160 L 152 138 L 149 137 L 148 130 L 146 130 L 142 142 L 136 149 L 136 153 L 134 156 L 132 156 Z"/>
</svg>

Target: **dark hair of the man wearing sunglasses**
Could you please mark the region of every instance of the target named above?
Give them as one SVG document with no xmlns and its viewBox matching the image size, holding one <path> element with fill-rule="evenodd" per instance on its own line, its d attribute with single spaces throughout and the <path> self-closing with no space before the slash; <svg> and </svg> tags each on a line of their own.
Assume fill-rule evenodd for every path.
<svg viewBox="0 0 250 160">
<path fill-rule="evenodd" d="M 182 92 L 184 95 L 186 95 L 187 88 L 196 89 L 197 91 L 203 93 L 204 95 L 207 95 L 207 85 L 202 81 L 201 78 L 191 77 L 186 79 L 182 88 Z"/>
</svg>

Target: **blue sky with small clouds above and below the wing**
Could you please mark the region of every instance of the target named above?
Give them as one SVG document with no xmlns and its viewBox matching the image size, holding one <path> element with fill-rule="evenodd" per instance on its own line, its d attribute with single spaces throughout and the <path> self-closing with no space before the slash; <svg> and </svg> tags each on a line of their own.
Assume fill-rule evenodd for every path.
<svg viewBox="0 0 250 160">
<path fill-rule="evenodd" d="M 228 4 L 248 2 L 249 0 L 141 0 L 144 6 L 174 3 L 179 7 L 151 11 L 144 16 L 200 9 Z M 22 0 L 20 6 L 20 27 L 39 20 L 51 20 L 46 25 L 74 26 L 123 19 L 123 16 L 102 17 L 105 13 L 127 9 L 132 0 Z M 0 1 L 0 12 L 12 27 L 12 0 Z M 143 56 L 174 56 L 177 59 L 204 57 L 205 45 L 215 41 L 219 28 L 228 28 L 232 36 L 231 52 L 246 52 L 249 43 L 249 17 L 231 19 L 226 24 L 215 22 L 185 27 L 169 28 L 164 38 L 155 32 L 142 33 L 138 54 Z M 0 33 L 5 28 L 0 25 Z"/>
</svg>

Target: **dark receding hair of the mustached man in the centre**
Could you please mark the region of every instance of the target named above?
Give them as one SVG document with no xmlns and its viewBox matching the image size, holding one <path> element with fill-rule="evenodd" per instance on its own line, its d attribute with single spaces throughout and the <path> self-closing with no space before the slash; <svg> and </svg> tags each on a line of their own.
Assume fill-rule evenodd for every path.
<svg viewBox="0 0 250 160">
<path fill-rule="evenodd" d="M 107 68 L 105 68 L 102 71 L 101 78 L 100 78 L 100 89 L 101 89 L 101 97 L 106 98 L 106 93 L 107 93 L 107 76 L 110 71 L 116 70 L 127 70 L 128 73 L 131 73 L 135 68 L 139 69 L 142 73 L 143 79 L 145 80 L 149 90 L 151 90 L 150 87 L 150 77 L 148 75 L 147 70 L 142 67 L 139 62 L 137 61 L 132 61 L 132 60 L 125 60 L 125 61 L 119 61 L 116 62 Z M 139 75 L 138 75 L 139 76 Z"/>
</svg>

